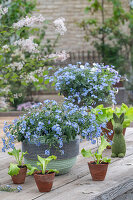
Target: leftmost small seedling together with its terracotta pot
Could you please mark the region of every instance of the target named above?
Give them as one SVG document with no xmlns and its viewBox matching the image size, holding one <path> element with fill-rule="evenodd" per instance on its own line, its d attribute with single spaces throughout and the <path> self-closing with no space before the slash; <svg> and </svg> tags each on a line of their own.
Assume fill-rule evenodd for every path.
<svg viewBox="0 0 133 200">
<path fill-rule="evenodd" d="M 10 163 L 10 167 L 8 170 L 8 174 L 12 177 L 12 181 L 14 184 L 23 184 L 25 182 L 27 166 L 22 164 L 23 156 L 27 154 L 27 152 L 21 152 L 21 150 L 17 150 L 16 148 L 13 151 L 8 152 L 9 155 L 14 156 L 17 163 Z"/>
</svg>

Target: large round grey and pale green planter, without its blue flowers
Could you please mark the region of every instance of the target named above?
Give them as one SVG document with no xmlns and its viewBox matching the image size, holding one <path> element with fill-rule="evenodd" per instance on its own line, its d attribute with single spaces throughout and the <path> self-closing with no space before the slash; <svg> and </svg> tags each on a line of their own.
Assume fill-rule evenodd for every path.
<svg viewBox="0 0 133 200">
<path fill-rule="evenodd" d="M 59 150 L 55 147 L 51 147 L 50 155 L 57 156 L 56 160 L 52 160 L 47 167 L 49 169 L 57 169 L 59 171 L 58 175 L 68 173 L 70 169 L 76 162 L 77 155 L 79 154 L 79 137 L 69 143 L 64 142 L 62 149 L 64 150 L 64 154 L 62 155 Z M 47 157 L 44 152 L 49 147 L 45 142 L 42 140 L 40 146 L 36 146 L 34 142 L 24 141 L 22 142 L 22 151 L 28 152 L 28 154 L 24 155 L 24 163 L 31 164 L 36 166 L 37 155 L 45 158 Z"/>
</svg>

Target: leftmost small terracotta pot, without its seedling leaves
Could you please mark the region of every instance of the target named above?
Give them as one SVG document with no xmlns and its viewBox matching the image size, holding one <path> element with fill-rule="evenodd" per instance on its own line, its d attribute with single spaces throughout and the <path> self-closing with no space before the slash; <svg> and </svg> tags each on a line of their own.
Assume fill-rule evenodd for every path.
<svg viewBox="0 0 133 200">
<path fill-rule="evenodd" d="M 12 176 L 12 181 L 14 184 L 23 184 L 25 182 L 27 167 L 20 166 L 20 171 L 18 175 Z"/>
</svg>

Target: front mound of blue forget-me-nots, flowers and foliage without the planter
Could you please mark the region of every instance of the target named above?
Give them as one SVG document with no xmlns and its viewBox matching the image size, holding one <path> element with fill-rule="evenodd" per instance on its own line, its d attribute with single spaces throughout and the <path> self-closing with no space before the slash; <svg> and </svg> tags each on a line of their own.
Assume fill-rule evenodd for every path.
<svg viewBox="0 0 133 200">
<path fill-rule="evenodd" d="M 49 113 L 49 114 L 46 114 Z M 91 140 L 93 143 L 102 132 L 102 126 L 97 122 L 95 114 L 88 112 L 87 107 L 78 107 L 73 103 L 57 104 L 46 100 L 38 104 L 12 124 L 4 125 L 5 138 L 3 149 L 14 148 L 14 141 L 27 141 L 40 146 L 42 138 L 49 145 L 44 153 L 50 155 L 50 147 L 56 146 L 63 154 L 63 143 L 76 139 L 77 135 Z"/>
</svg>

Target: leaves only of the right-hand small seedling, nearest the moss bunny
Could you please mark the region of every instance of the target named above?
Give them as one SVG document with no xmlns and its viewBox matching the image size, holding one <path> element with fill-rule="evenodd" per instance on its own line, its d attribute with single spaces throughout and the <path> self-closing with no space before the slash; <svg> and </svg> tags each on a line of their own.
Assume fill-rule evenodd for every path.
<svg viewBox="0 0 133 200">
<path fill-rule="evenodd" d="M 83 157 L 87 157 L 87 158 L 93 157 L 94 162 L 96 164 L 101 164 L 102 162 L 110 163 L 111 159 L 108 159 L 106 157 L 103 158 L 103 156 L 102 156 L 103 151 L 106 149 L 106 147 L 108 145 L 110 145 L 110 143 L 107 142 L 107 140 L 104 138 L 104 136 L 101 136 L 100 139 L 101 139 L 101 144 L 99 145 L 98 150 L 96 152 L 92 153 L 91 149 L 85 150 L 83 148 L 81 151 L 81 154 Z"/>
</svg>

